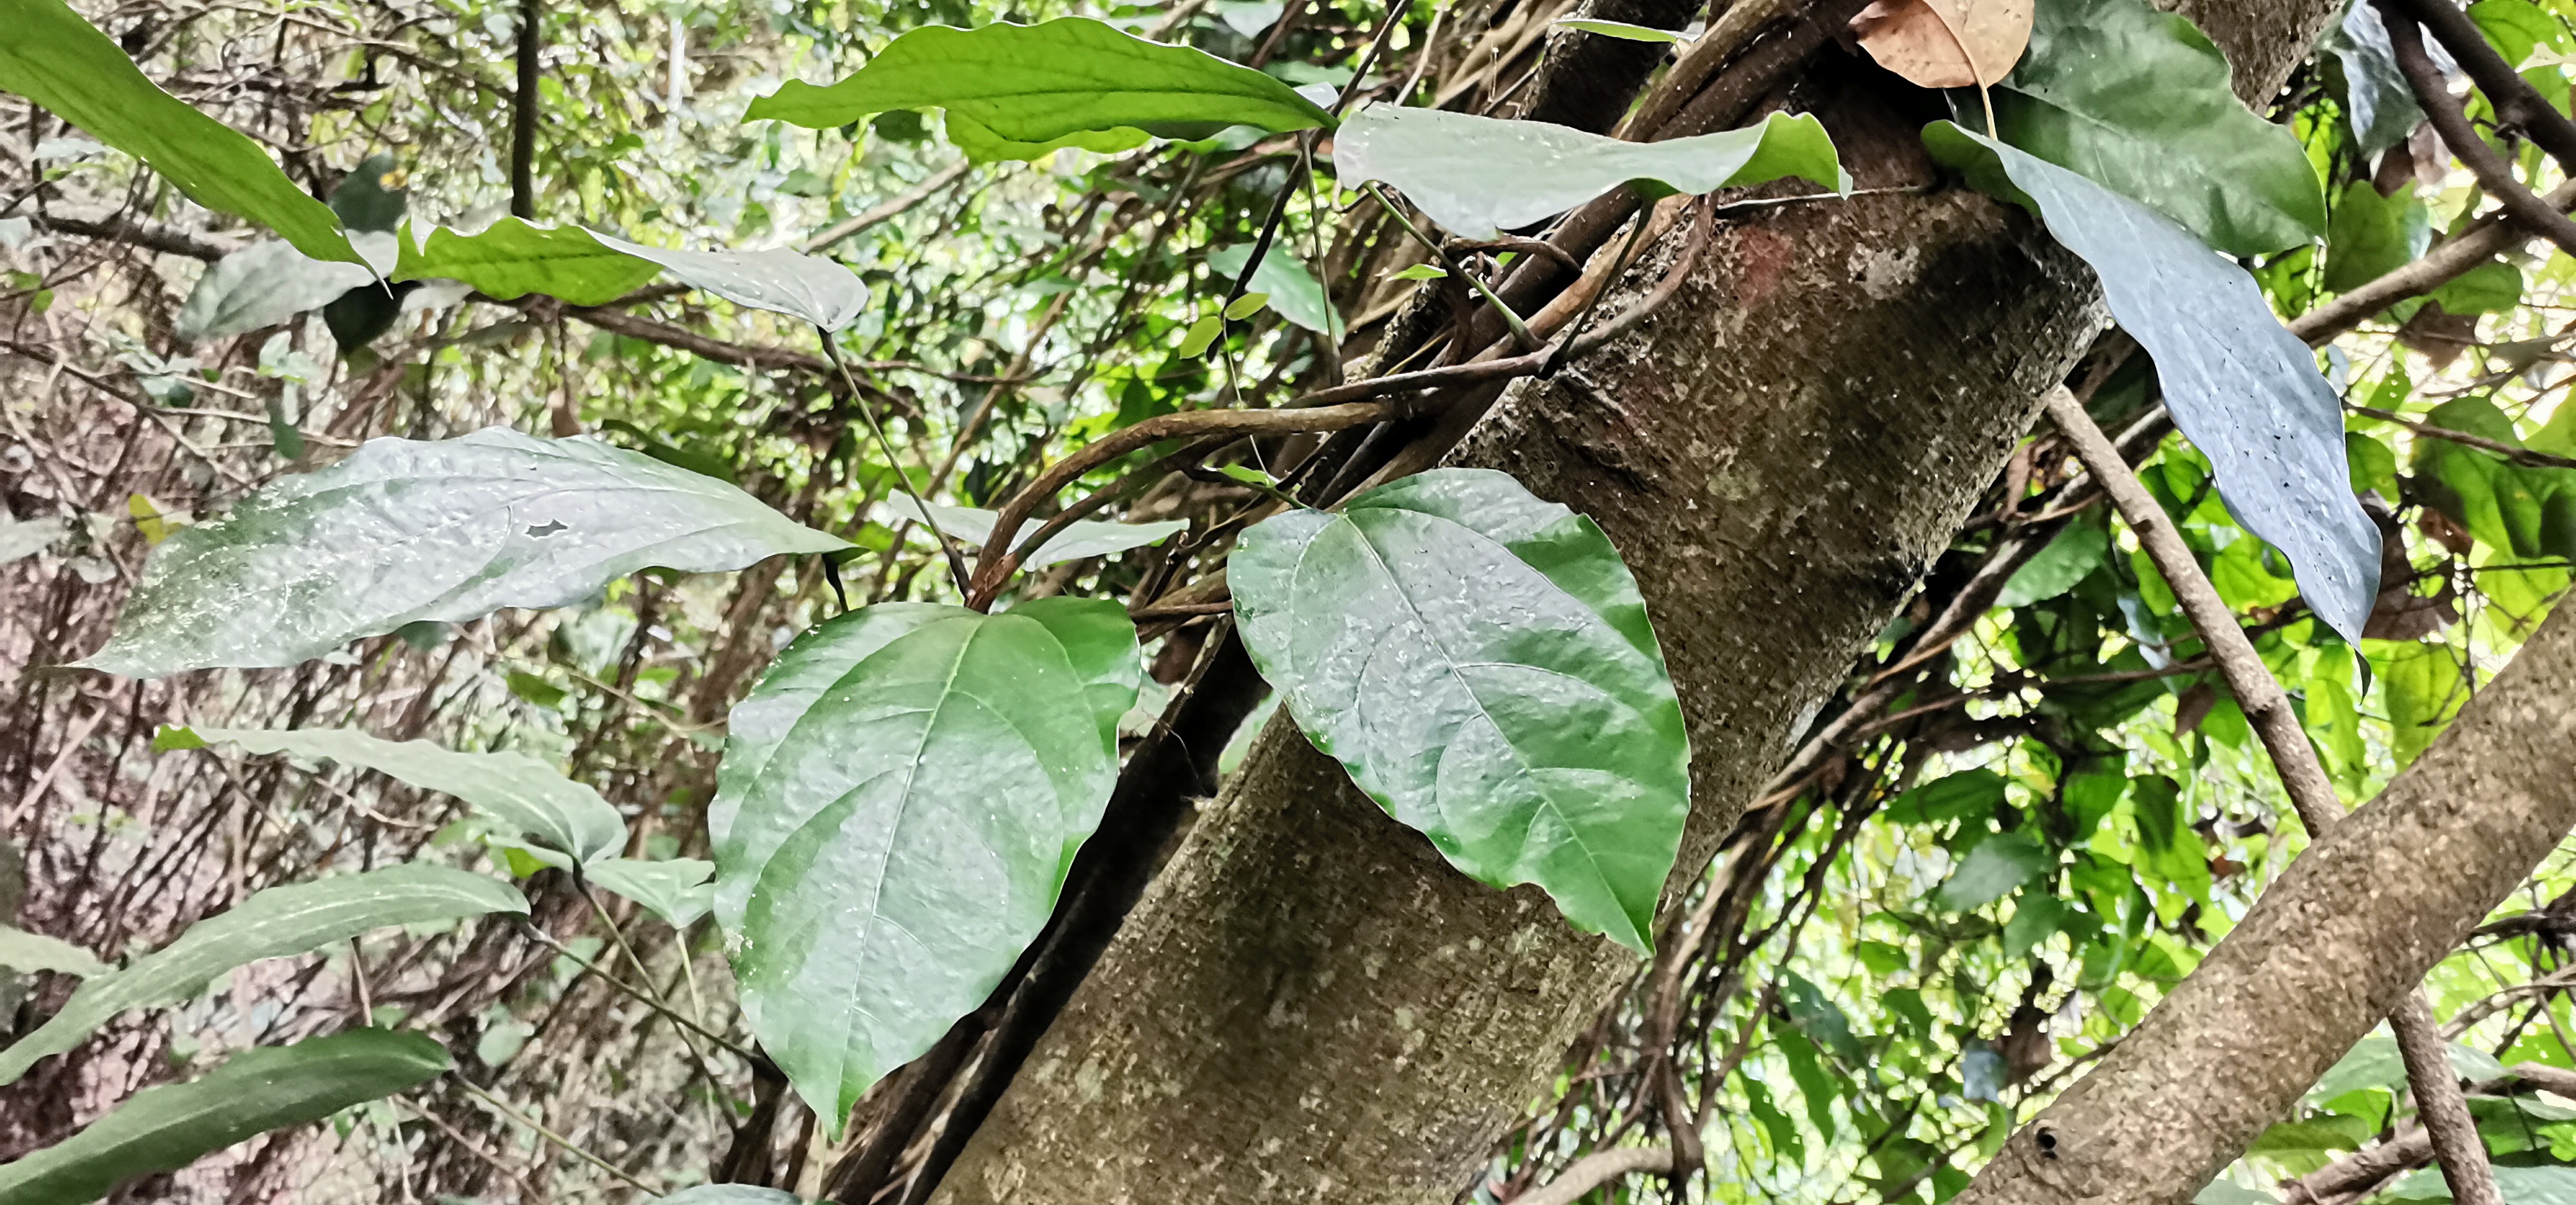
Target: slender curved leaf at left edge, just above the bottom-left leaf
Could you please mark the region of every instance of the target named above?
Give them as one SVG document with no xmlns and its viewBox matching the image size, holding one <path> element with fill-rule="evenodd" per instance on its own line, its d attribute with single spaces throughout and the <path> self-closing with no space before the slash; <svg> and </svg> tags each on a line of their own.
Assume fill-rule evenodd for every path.
<svg viewBox="0 0 2576 1205">
<path fill-rule="evenodd" d="M 386 924 L 420 924 L 487 911 L 528 911 L 528 901 L 500 881 L 446 865 L 389 865 L 363 875 L 255 891 L 232 911 L 188 927 L 175 942 L 80 984 L 54 1020 L 0 1051 L 0 1084 L 15 1084 L 39 1058 L 80 1045 L 126 1009 L 175 1004 L 260 958 L 289 958 L 343 942 Z"/>
</svg>

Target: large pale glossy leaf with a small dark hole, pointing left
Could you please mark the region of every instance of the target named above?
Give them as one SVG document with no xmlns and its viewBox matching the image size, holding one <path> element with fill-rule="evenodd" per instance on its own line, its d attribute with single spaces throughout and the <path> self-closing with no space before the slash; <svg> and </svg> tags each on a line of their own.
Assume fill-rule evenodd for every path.
<svg viewBox="0 0 2576 1205">
<path fill-rule="evenodd" d="M 152 548 L 116 639 L 80 664 L 296 664 L 404 623 L 577 602 L 636 569 L 837 548 L 742 489 L 595 438 L 368 440 Z"/>
</svg>

